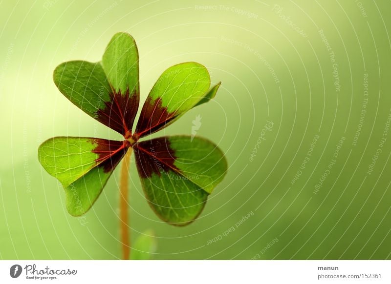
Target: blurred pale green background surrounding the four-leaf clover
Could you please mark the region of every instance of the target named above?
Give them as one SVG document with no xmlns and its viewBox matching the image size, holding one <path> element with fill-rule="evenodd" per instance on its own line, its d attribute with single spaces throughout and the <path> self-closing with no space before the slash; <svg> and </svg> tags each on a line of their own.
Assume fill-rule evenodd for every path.
<svg viewBox="0 0 391 284">
<path fill-rule="evenodd" d="M 120 257 L 118 169 L 78 219 L 37 160 L 53 136 L 121 138 L 52 81 L 63 61 L 99 61 L 118 31 L 137 42 L 141 100 L 178 62 L 222 81 L 156 136 L 190 135 L 200 115 L 197 134 L 229 162 L 200 218 L 174 227 L 133 161 L 133 242 L 152 229 L 154 259 L 390 259 L 390 13 L 372 0 L 1 1 L 0 259 Z"/>
</svg>

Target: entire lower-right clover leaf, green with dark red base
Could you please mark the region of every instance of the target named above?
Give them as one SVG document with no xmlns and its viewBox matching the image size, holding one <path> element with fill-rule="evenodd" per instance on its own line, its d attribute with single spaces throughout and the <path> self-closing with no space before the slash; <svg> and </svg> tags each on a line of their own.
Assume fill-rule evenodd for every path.
<svg viewBox="0 0 391 284">
<path fill-rule="evenodd" d="M 161 137 L 134 146 L 137 170 L 155 213 L 174 225 L 191 223 L 227 171 L 218 147 L 203 138 Z"/>
</svg>

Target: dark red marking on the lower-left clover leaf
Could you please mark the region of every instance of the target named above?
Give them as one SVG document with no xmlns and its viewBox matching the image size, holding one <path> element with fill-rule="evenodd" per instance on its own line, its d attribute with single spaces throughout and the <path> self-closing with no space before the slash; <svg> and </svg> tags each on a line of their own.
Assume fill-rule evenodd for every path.
<svg viewBox="0 0 391 284">
<path fill-rule="evenodd" d="M 96 144 L 92 152 L 98 155 L 95 161 L 99 163 L 98 167 L 103 167 L 105 173 L 112 171 L 118 165 L 130 147 L 130 142 L 127 140 L 114 141 L 94 138 L 90 142 Z"/>
</svg>

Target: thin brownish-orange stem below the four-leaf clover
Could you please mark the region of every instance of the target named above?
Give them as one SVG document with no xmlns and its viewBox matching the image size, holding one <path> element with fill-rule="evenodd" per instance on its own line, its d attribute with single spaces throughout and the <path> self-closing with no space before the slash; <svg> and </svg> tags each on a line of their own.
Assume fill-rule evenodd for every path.
<svg viewBox="0 0 391 284">
<path fill-rule="evenodd" d="M 129 236 L 129 214 L 128 214 L 128 196 L 129 196 L 129 164 L 132 148 L 126 152 L 121 166 L 120 195 L 119 195 L 119 216 L 122 243 L 122 259 L 129 260 L 130 255 L 130 236 Z"/>
</svg>

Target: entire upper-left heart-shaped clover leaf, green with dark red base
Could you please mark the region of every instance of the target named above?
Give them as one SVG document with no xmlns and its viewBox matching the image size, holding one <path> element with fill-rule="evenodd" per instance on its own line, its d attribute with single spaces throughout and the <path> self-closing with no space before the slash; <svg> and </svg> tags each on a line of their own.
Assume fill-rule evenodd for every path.
<svg viewBox="0 0 391 284">
<path fill-rule="evenodd" d="M 129 138 L 140 98 L 134 39 L 127 33 L 115 34 L 102 64 L 64 62 L 54 70 L 53 80 L 69 101 Z"/>
</svg>

